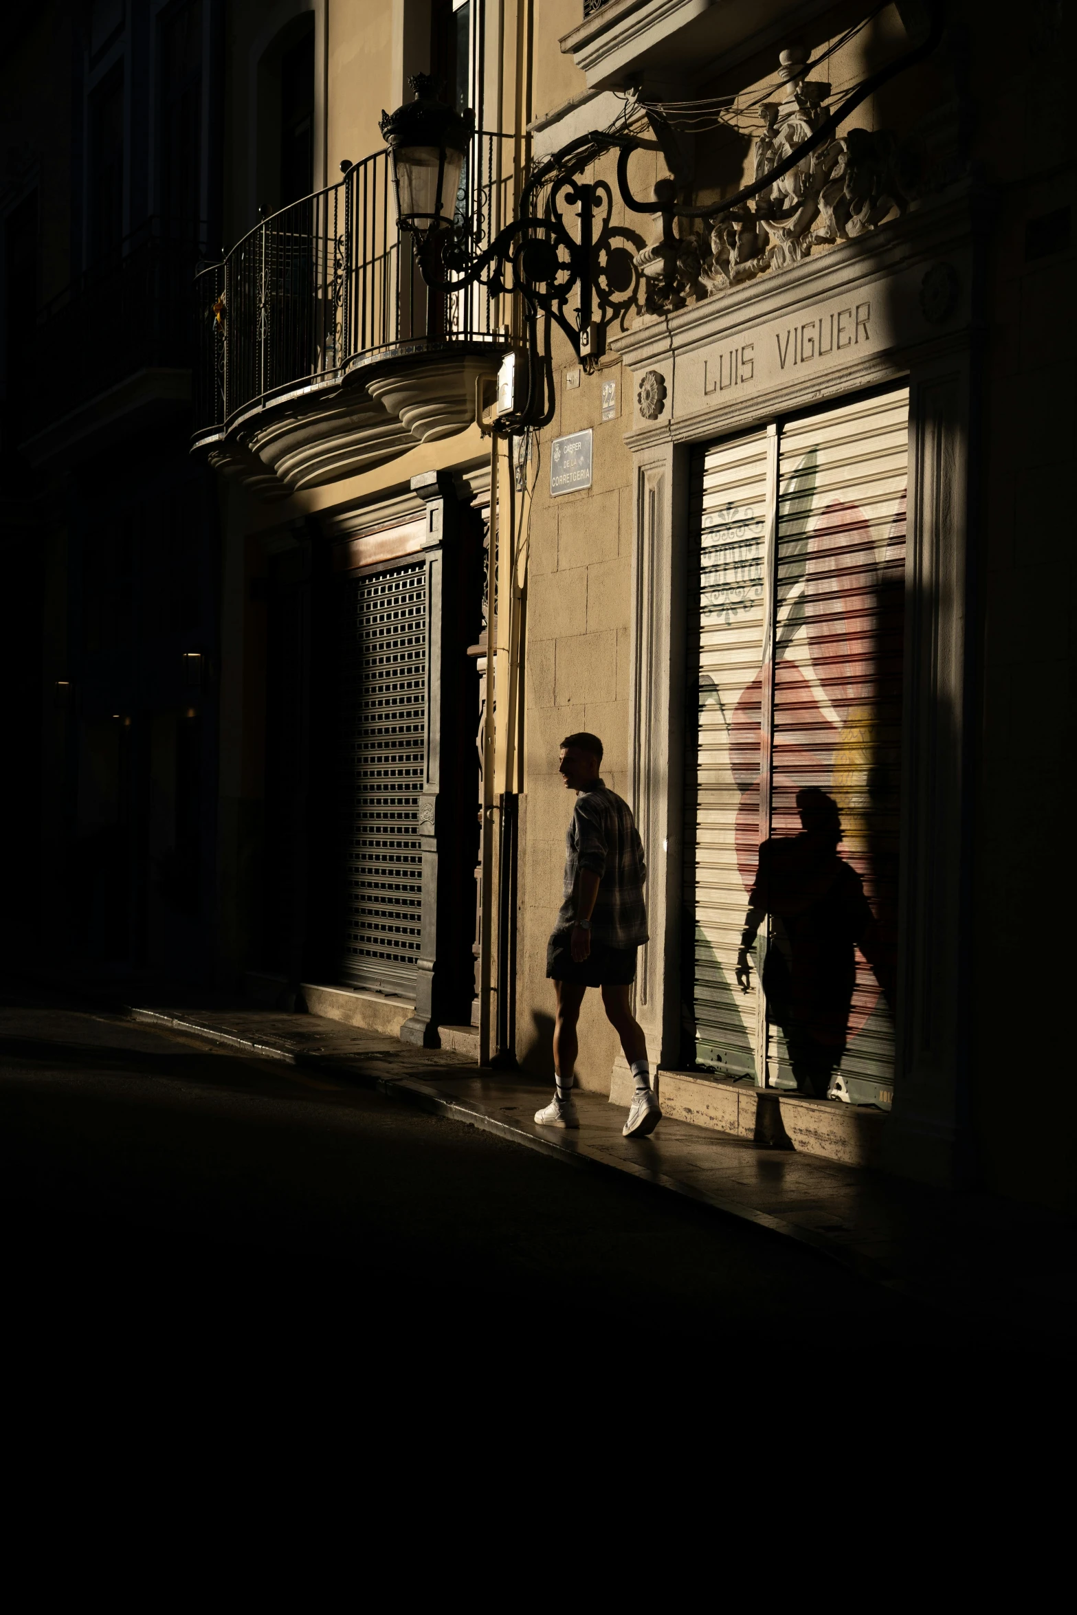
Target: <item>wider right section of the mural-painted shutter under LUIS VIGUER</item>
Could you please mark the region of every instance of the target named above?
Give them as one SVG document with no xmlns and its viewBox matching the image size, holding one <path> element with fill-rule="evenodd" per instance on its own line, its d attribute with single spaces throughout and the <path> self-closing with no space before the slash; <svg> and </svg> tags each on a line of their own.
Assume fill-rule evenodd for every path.
<svg viewBox="0 0 1077 1615">
<path fill-rule="evenodd" d="M 901 670 L 907 484 L 906 389 L 820 410 L 782 430 L 772 833 L 796 835 L 796 791 L 841 816 L 841 856 L 874 914 L 874 969 L 856 985 L 838 1092 L 888 1105 L 898 930 Z M 772 1027 L 780 1087 L 794 1087 Z M 773 1069 L 773 1068 L 772 1068 Z"/>
</svg>

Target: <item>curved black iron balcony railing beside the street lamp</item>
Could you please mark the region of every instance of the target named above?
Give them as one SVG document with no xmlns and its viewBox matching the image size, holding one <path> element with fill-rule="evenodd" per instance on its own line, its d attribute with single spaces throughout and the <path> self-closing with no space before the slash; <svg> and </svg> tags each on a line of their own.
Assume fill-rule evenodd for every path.
<svg viewBox="0 0 1077 1615">
<path fill-rule="evenodd" d="M 509 218 L 504 144 L 478 134 L 468 152 L 455 216 L 471 250 Z M 257 224 L 200 271 L 195 299 L 195 443 L 371 360 L 497 341 L 483 287 L 426 287 L 412 237 L 397 229 L 386 150 Z"/>
</svg>

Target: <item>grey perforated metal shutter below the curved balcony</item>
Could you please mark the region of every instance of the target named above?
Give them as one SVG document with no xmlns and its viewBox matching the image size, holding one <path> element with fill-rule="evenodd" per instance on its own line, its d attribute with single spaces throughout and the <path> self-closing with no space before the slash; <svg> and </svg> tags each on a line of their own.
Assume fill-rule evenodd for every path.
<svg viewBox="0 0 1077 1615">
<path fill-rule="evenodd" d="M 341 972 L 352 985 L 410 996 L 423 919 L 426 565 L 352 578 L 344 594 Z"/>
</svg>

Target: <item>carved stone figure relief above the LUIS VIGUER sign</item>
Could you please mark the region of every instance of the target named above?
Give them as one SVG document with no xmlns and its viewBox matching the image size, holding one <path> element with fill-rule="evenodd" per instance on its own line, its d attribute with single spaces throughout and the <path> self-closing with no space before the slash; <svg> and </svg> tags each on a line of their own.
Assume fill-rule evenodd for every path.
<svg viewBox="0 0 1077 1615">
<path fill-rule="evenodd" d="M 806 78 L 806 53 L 783 50 L 782 100 L 759 111 L 752 179 L 777 168 L 825 123 L 830 84 Z M 849 129 L 823 141 L 743 207 L 717 215 L 704 234 L 678 236 L 673 181 L 659 181 L 656 237 L 636 255 L 651 313 L 712 297 L 759 275 L 799 263 L 820 247 L 853 241 L 907 207 L 916 153 L 888 129 Z M 683 221 L 685 223 L 685 221 Z"/>
</svg>

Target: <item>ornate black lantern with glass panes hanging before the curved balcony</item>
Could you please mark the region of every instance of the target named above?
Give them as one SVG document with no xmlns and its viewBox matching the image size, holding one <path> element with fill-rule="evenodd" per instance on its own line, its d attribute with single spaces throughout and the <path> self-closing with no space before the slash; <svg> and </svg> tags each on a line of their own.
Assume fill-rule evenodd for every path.
<svg viewBox="0 0 1077 1615">
<path fill-rule="evenodd" d="M 428 73 L 409 79 L 415 100 L 381 113 L 381 132 L 392 157 L 397 223 L 420 242 L 452 228 L 463 157 L 475 136 L 475 113 L 454 111 L 434 100 Z"/>
</svg>

